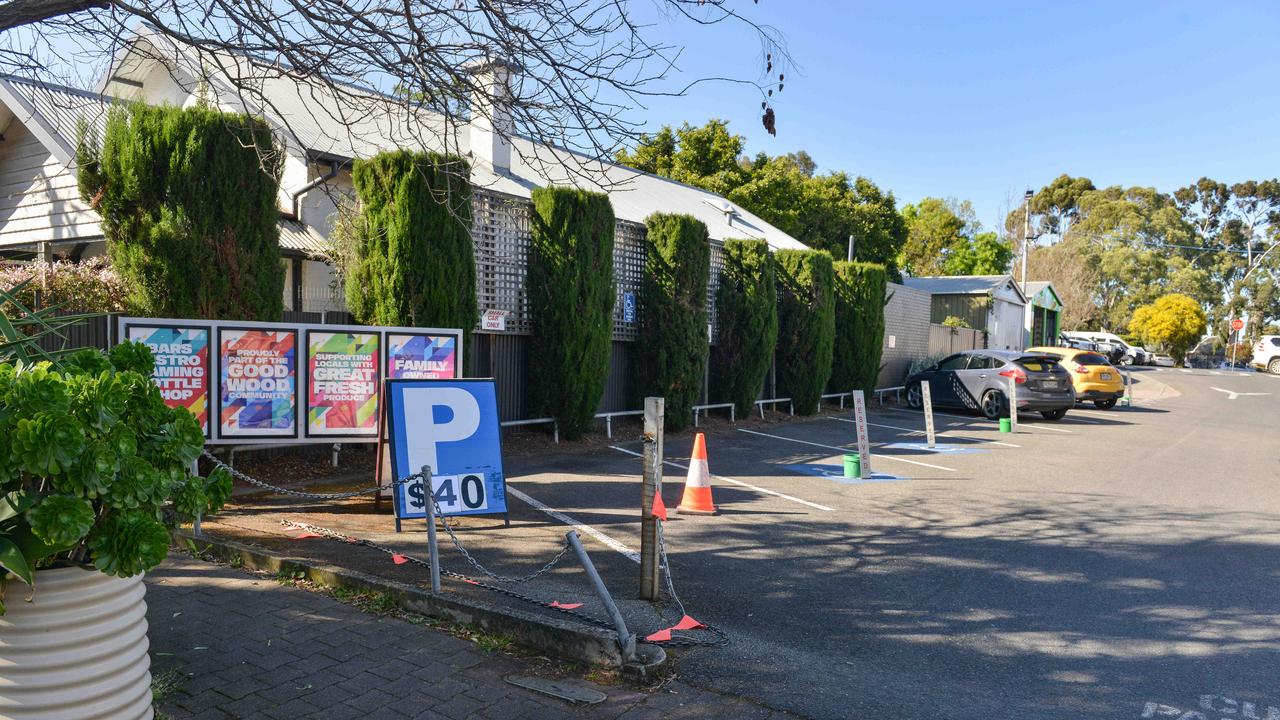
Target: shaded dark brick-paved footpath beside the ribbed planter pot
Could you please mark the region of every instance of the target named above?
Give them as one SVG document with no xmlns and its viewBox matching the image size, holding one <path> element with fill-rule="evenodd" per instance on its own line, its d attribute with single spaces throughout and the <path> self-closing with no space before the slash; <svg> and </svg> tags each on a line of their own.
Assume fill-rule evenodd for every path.
<svg viewBox="0 0 1280 720">
<path fill-rule="evenodd" d="M 173 719 L 787 719 L 678 680 L 599 687 L 575 707 L 503 678 L 529 667 L 475 643 L 224 565 L 173 555 L 147 575 L 152 673 Z"/>
</svg>

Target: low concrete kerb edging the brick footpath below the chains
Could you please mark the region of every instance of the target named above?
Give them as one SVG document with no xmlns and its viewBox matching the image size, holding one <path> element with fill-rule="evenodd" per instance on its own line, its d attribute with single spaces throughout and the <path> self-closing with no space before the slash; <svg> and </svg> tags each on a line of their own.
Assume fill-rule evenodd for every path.
<svg viewBox="0 0 1280 720">
<path fill-rule="evenodd" d="M 640 679 L 659 676 L 668 665 L 666 652 L 657 646 L 645 646 L 644 653 L 637 652 L 637 656 L 643 659 L 641 664 L 623 665 L 617 634 L 604 628 L 543 618 L 467 597 L 438 596 L 407 583 L 387 580 L 323 562 L 271 555 L 261 548 L 234 541 L 210 538 L 209 536 L 197 538 L 186 530 L 173 530 L 170 536 L 179 547 L 193 543 L 202 555 L 224 562 L 230 562 L 234 559 L 243 568 L 251 570 L 285 573 L 329 588 L 385 593 L 394 598 L 401 610 L 460 624 L 475 624 L 490 633 L 509 634 L 516 638 L 518 644 L 563 660 L 593 666 L 618 667 Z"/>
</svg>

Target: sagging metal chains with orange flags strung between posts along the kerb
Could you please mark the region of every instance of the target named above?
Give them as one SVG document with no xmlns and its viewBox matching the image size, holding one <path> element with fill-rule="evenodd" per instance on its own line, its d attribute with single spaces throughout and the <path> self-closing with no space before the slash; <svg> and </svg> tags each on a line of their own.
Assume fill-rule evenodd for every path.
<svg viewBox="0 0 1280 720">
<path fill-rule="evenodd" d="M 366 489 L 352 491 L 352 492 L 305 492 L 305 491 L 300 491 L 300 489 L 293 489 L 293 488 L 275 486 L 275 484 L 260 480 L 260 479 L 257 479 L 257 478 L 255 478 L 252 475 L 248 475 L 246 473 L 242 473 L 242 471 L 237 470 L 236 468 L 232 468 L 230 465 L 223 462 L 221 460 L 219 460 L 215 455 L 212 455 L 207 450 L 204 451 L 202 455 L 209 461 L 211 461 L 215 468 L 219 468 L 221 470 L 225 470 L 225 471 L 230 473 L 230 475 L 233 478 L 236 478 L 236 479 L 243 480 L 243 482 L 246 482 L 246 483 L 248 483 L 251 486 L 256 486 L 256 487 L 260 487 L 262 489 L 268 489 L 268 491 L 271 491 L 271 492 L 275 492 L 275 493 L 279 493 L 279 495 L 288 495 L 288 496 L 293 496 L 293 497 L 306 497 L 306 498 L 310 498 L 310 500 L 346 500 L 346 498 L 351 498 L 351 497 L 361 497 L 361 496 L 366 496 L 366 495 L 372 495 L 375 492 L 381 492 L 387 487 L 410 484 L 410 483 L 415 483 L 415 482 L 420 482 L 420 480 L 425 479 L 425 474 L 424 473 L 413 473 L 412 475 L 408 475 L 408 477 L 404 477 L 404 478 L 401 478 L 401 479 L 397 479 L 397 480 L 392 480 L 389 483 L 389 486 L 384 486 L 384 487 L 374 487 L 374 488 L 366 488 Z M 454 548 L 457 548 L 458 553 L 462 555 L 462 557 L 467 561 L 467 564 L 470 564 L 472 568 L 475 568 L 479 573 L 481 573 L 483 575 L 485 575 L 486 578 L 489 578 L 490 580 L 493 580 L 493 583 L 500 583 L 500 584 L 493 584 L 493 583 L 486 583 L 486 582 L 476 580 L 475 578 L 470 578 L 467 575 L 463 575 L 462 573 L 454 573 L 452 570 L 445 570 L 443 566 L 440 568 L 440 574 L 442 575 L 445 575 L 445 577 L 449 577 L 449 578 L 453 578 L 453 579 L 457 579 L 457 580 L 462 580 L 462 582 L 465 582 L 467 584 L 472 584 L 472 585 L 476 585 L 479 588 L 484 588 L 484 589 L 488 589 L 488 591 L 492 591 L 492 592 L 497 592 L 499 594 L 504 594 L 507 597 L 511 597 L 511 598 L 515 598 L 515 600 L 518 600 L 518 601 L 522 601 L 522 602 L 529 602 L 529 603 L 536 605 L 539 607 L 544 607 L 544 609 L 552 607 L 549 603 L 547 603 L 543 600 L 539 600 L 536 597 L 516 592 L 516 591 L 511 589 L 509 587 L 503 587 L 503 585 L 529 583 L 531 580 L 538 579 L 541 575 L 545 575 L 547 573 L 550 573 L 552 569 L 554 569 L 561 562 L 561 560 L 564 559 L 564 556 L 568 553 L 568 551 L 571 550 L 571 546 L 570 546 L 570 543 L 568 543 L 567 539 L 564 541 L 564 544 L 559 548 L 559 552 L 557 552 L 556 556 L 550 559 L 550 561 L 548 561 L 545 565 L 543 565 L 538 570 L 534 570 L 532 573 L 530 573 L 527 575 L 521 575 L 518 578 L 500 575 L 500 574 L 494 573 L 493 570 L 489 570 L 488 568 L 485 568 L 484 564 L 481 564 L 479 560 L 476 560 L 475 556 L 471 555 L 471 552 L 467 551 L 466 547 L 463 547 L 462 541 L 458 539 L 458 536 L 453 530 L 453 527 L 449 524 L 449 521 L 445 519 L 445 516 L 440 512 L 440 506 L 435 501 L 434 493 L 431 493 L 431 492 L 424 492 L 422 495 L 430 498 L 431 505 L 435 507 L 435 516 L 440 520 L 440 525 L 444 528 L 444 532 L 448 533 L 449 542 L 453 544 Z M 316 534 L 326 537 L 329 539 L 335 539 L 335 541 L 342 541 L 342 542 L 346 542 L 346 543 L 349 543 L 349 544 L 360 544 L 360 546 L 364 546 L 364 547 L 369 547 L 371 550 L 376 550 L 376 551 L 384 552 L 387 555 L 398 555 L 401 557 L 404 557 L 411 564 L 421 566 L 421 568 L 425 568 L 428 570 L 430 570 L 430 568 L 431 568 L 430 562 L 428 562 L 425 560 L 413 557 L 411 555 L 403 555 L 401 552 L 396 552 L 394 550 L 392 550 L 392 548 L 389 548 L 387 546 L 375 543 L 372 541 L 364 539 L 364 538 L 356 538 L 356 537 L 351 537 L 351 536 L 346 536 L 346 534 L 339 533 L 337 530 L 330 530 L 329 528 L 321 528 L 319 525 L 312 525 L 310 523 L 297 523 L 294 520 L 280 520 L 280 524 L 285 525 L 285 527 L 289 527 L 289 528 L 297 528 L 297 529 L 307 530 L 307 532 L 311 532 L 311 533 L 316 533 Z M 676 585 L 675 585 L 675 582 L 671 578 L 671 565 L 667 561 L 667 543 L 666 543 L 666 541 L 663 538 L 662 525 L 663 525 L 662 523 L 658 523 L 658 553 L 659 553 L 658 555 L 658 561 L 659 561 L 658 564 L 659 564 L 659 568 L 660 568 L 660 570 L 663 573 L 663 577 L 667 580 L 666 582 L 666 584 L 667 584 L 667 593 L 671 596 L 672 602 L 675 602 L 676 607 L 680 610 L 680 615 L 685 616 L 685 615 L 687 615 L 685 612 L 685 605 L 684 605 L 684 602 L 680 601 L 680 596 L 676 594 Z M 663 620 L 666 620 L 666 616 L 662 612 L 662 603 L 658 603 L 655 607 L 657 607 L 658 615 L 660 618 L 663 618 Z M 596 625 L 596 626 L 607 628 L 607 629 L 612 629 L 613 628 L 613 625 L 611 623 L 605 623 L 604 620 L 600 620 L 598 618 L 588 615 L 586 612 L 582 612 L 582 611 L 576 610 L 576 609 L 554 607 L 554 610 L 558 610 L 558 611 L 561 611 L 561 612 L 563 612 L 566 615 L 576 618 L 577 620 L 581 620 L 581 621 L 588 623 L 590 625 Z M 689 635 L 675 635 L 675 634 L 672 634 L 672 638 L 669 641 L 664 642 L 663 646 L 666 646 L 666 647 L 708 647 L 708 646 L 722 646 L 722 644 L 727 644 L 728 643 L 728 635 L 723 630 L 721 630 L 719 628 L 717 628 L 717 626 L 714 626 L 714 625 L 712 625 L 709 623 L 704 623 L 704 625 L 707 625 L 705 626 L 705 632 L 713 635 L 712 639 L 699 639 L 699 638 L 692 638 L 692 637 L 689 637 Z"/>
</svg>

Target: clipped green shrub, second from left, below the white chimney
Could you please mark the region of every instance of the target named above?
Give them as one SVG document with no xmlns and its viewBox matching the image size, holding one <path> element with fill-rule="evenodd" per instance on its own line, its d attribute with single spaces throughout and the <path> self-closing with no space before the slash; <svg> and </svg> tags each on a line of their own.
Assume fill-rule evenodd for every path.
<svg viewBox="0 0 1280 720">
<path fill-rule="evenodd" d="M 381 152 L 356 160 L 360 197 L 347 306 L 360 323 L 461 328 L 479 313 L 465 160 L 435 152 Z"/>
</svg>

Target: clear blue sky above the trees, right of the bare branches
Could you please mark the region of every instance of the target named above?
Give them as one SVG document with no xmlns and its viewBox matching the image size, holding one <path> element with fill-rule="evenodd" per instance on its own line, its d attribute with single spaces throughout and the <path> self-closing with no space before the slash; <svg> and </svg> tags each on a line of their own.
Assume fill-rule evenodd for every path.
<svg viewBox="0 0 1280 720">
<path fill-rule="evenodd" d="M 1280 176 L 1276 3 L 739 3 L 795 58 L 778 136 L 754 90 L 730 83 L 655 99 L 657 129 L 717 117 L 748 152 L 804 149 L 822 170 L 973 201 L 991 228 L 1060 173 L 1170 192 L 1208 176 Z M 681 78 L 754 77 L 741 28 L 663 28 Z"/>
</svg>

